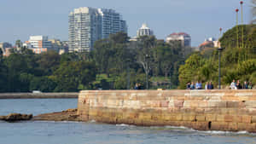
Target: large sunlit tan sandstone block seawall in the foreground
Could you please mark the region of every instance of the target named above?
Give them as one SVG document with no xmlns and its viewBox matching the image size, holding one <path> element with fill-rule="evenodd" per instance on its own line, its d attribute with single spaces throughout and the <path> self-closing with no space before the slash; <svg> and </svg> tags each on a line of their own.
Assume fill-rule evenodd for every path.
<svg viewBox="0 0 256 144">
<path fill-rule="evenodd" d="M 256 132 L 256 90 L 84 90 L 83 121 Z"/>
</svg>

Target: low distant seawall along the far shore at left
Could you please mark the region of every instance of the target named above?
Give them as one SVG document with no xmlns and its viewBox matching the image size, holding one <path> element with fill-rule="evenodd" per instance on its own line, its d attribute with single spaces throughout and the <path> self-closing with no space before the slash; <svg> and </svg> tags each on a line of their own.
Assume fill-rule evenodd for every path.
<svg viewBox="0 0 256 144">
<path fill-rule="evenodd" d="M 78 98 L 79 93 L 0 93 L 0 99 Z"/>
</svg>

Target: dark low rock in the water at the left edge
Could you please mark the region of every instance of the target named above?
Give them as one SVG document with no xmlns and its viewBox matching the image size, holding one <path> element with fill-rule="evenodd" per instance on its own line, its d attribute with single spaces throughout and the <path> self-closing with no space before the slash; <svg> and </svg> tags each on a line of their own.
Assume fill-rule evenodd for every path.
<svg viewBox="0 0 256 144">
<path fill-rule="evenodd" d="M 15 122 L 21 120 L 30 120 L 32 119 L 32 114 L 20 114 L 20 113 L 10 113 L 7 116 L 0 116 L 0 120 L 4 120 L 7 122 Z"/>
</svg>

